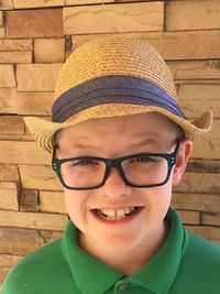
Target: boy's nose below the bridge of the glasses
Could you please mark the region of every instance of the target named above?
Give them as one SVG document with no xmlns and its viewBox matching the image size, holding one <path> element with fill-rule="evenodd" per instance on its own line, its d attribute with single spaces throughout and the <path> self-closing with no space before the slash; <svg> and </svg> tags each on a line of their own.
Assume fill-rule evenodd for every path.
<svg viewBox="0 0 220 294">
<path fill-rule="evenodd" d="M 111 198 L 129 196 L 133 192 L 133 187 L 123 181 L 120 172 L 116 167 L 110 168 L 106 183 L 99 189 L 103 196 Z"/>
</svg>

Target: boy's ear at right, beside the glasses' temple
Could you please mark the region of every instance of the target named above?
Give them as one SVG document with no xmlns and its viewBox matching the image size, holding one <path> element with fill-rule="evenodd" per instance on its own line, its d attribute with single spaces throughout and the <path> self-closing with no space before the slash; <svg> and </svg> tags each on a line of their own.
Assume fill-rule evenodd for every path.
<svg viewBox="0 0 220 294">
<path fill-rule="evenodd" d="M 186 165 L 193 152 L 193 142 L 188 139 L 179 142 L 179 148 L 176 155 L 176 164 L 174 166 L 172 184 L 175 186 L 182 181 Z"/>
</svg>

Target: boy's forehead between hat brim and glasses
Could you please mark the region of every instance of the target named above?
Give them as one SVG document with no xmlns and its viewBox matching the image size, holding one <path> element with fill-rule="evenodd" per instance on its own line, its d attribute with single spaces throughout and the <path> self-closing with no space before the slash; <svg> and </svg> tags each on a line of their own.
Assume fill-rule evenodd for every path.
<svg viewBox="0 0 220 294">
<path fill-rule="evenodd" d="M 97 142 L 116 140 L 123 142 L 135 141 L 142 138 L 173 140 L 179 129 L 178 126 L 165 116 L 156 112 L 147 112 L 124 117 L 90 119 L 75 126 L 70 126 L 57 133 L 56 141 L 70 142 Z"/>
</svg>

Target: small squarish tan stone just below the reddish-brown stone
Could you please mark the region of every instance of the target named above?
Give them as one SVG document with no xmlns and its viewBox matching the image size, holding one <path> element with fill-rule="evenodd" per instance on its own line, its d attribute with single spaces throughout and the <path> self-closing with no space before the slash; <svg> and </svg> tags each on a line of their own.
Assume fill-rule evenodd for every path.
<svg viewBox="0 0 220 294">
<path fill-rule="evenodd" d="M 65 61 L 65 39 L 35 39 L 35 63 L 62 63 Z"/>
</svg>

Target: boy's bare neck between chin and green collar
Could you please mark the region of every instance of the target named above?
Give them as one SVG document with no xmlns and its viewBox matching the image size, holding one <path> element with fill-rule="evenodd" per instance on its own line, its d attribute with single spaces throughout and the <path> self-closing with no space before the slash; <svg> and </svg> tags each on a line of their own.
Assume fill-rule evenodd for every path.
<svg viewBox="0 0 220 294">
<path fill-rule="evenodd" d="M 105 264 L 131 275 L 140 270 L 144 264 L 158 252 L 166 240 L 169 231 L 169 225 L 166 220 L 163 221 L 155 233 L 146 236 L 135 248 L 129 251 L 109 250 L 101 248 L 95 240 L 89 240 L 84 233 L 79 232 L 79 247 L 85 251 L 102 261 Z"/>
</svg>

